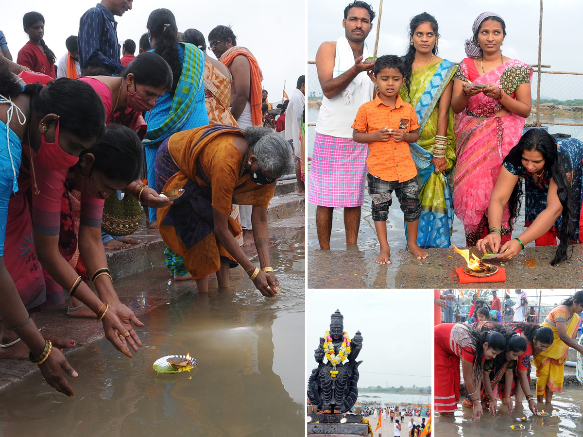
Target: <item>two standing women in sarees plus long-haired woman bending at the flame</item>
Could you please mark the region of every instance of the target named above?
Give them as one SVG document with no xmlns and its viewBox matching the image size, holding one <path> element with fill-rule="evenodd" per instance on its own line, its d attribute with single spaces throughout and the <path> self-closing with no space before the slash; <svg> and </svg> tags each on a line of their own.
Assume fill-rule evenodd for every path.
<svg viewBox="0 0 583 437">
<path fill-rule="evenodd" d="M 552 264 L 566 259 L 568 244 L 583 242 L 583 143 L 541 129 L 523 135 L 533 71 L 502 54 L 503 18 L 493 12 L 476 18 L 468 57 L 457 68 L 437 57 L 433 16 L 413 17 L 409 29 L 407 80 L 399 94 L 421 121 L 411 145 L 423 206 L 417 244 L 448 247 L 455 211 L 468 246 L 510 259 L 529 242 L 553 245 L 559 237 Z M 433 156 L 436 136 L 447 138 L 443 158 Z M 523 179 L 528 230 L 511 239 Z"/>
</svg>

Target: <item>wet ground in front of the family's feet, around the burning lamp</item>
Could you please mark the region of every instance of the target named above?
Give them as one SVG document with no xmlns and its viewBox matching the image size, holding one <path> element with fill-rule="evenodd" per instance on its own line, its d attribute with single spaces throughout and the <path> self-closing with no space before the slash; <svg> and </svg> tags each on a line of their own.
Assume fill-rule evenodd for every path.
<svg viewBox="0 0 583 437">
<path fill-rule="evenodd" d="M 366 245 L 365 245 L 366 246 Z M 489 288 L 579 288 L 583 286 L 583 245 L 573 245 L 573 256 L 557 267 L 550 265 L 556 246 L 527 246 L 511 260 L 489 260 L 504 267 L 506 281 Z M 391 252 L 391 265 L 377 265 L 378 252 L 354 246 L 345 250 L 308 253 L 308 288 L 459 288 L 457 267 L 465 265 L 453 248 L 426 249 L 429 258 L 417 260 L 404 249 Z M 472 253 L 481 252 L 473 248 Z M 504 266 L 501 266 L 501 263 Z M 465 284 L 478 288 L 480 283 Z"/>
</svg>

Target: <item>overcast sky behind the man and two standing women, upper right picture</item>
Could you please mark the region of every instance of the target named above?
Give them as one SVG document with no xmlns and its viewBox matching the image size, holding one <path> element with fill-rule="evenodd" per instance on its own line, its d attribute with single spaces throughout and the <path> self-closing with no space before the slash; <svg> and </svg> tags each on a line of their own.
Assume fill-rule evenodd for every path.
<svg viewBox="0 0 583 437">
<path fill-rule="evenodd" d="M 308 0 L 308 60 L 314 61 L 319 45 L 323 41 L 335 41 L 343 35 L 343 10 L 349 0 Z M 367 45 L 371 52 L 378 24 L 380 0 L 371 2 L 377 17 L 373 30 L 368 35 Z M 406 7 L 403 5 L 406 4 Z M 388 2 L 383 4 L 380 37 L 377 55 L 404 55 L 409 44 L 409 21 L 411 17 L 428 12 L 439 24 L 438 48 L 441 58 L 459 62 L 466 57 L 463 43 L 472 36 L 472 24 L 482 12 L 491 11 L 501 15 L 506 23 L 507 36 L 503 54 L 526 64 L 538 63 L 539 14 L 538 0 L 433 0 L 431 2 Z M 581 0 L 546 0 L 543 9 L 541 64 L 551 65 L 550 71 L 583 72 L 583 55 L 578 42 L 583 18 Z M 315 70 L 315 69 L 314 69 Z M 552 77 L 549 77 L 552 76 Z M 554 83 L 545 83 L 545 79 Z M 534 77 L 536 80 L 536 75 Z M 583 98 L 583 76 L 542 76 L 542 97 L 561 99 Z M 318 90 L 317 83 L 308 79 L 308 91 Z M 536 87 L 534 87 L 536 97 Z M 319 93 L 318 93 L 319 94 Z"/>
</svg>

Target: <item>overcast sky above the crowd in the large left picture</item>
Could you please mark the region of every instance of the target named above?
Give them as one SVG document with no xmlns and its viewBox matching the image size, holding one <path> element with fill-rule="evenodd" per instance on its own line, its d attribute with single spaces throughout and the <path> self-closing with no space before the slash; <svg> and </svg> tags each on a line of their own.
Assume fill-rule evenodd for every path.
<svg viewBox="0 0 583 437">
<path fill-rule="evenodd" d="M 59 58 L 66 53 L 66 38 L 78 34 L 80 17 L 96 3 L 94 0 L 52 3 L 40 0 L 2 0 L 0 30 L 6 36 L 13 59 L 16 61 L 18 51 L 28 41 L 28 36 L 22 29 L 24 13 L 36 10 L 44 15 L 45 43 Z M 131 38 L 138 45 L 139 38 L 146 31 L 150 12 L 161 7 L 174 13 L 179 31 L 194 27 L 207 38 L 207 44 L 209 31 L 213 27 L 218 24 L 231 24 L 237 43 L 251 50 L 258 59 L 264 76 L 263 87 L 269 91 L 269 101 L 281 100 L 284 80 L 287 80 L 286 92 L 291 96 L 297 78 L 305 74 L 304 2 L 134 0 L 132 10 L 128 10 L 121 17 L 115 17 L 120 44 Z M 207 50 L 207 55 L 214 57 L 210 49 Z"/>
</svg>

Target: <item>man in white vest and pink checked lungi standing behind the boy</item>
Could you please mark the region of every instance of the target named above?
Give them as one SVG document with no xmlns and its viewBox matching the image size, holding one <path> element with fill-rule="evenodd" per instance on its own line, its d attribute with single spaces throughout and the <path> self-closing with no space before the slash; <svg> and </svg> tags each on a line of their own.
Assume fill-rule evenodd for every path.
<svg viewBox="0 0 583 437">
<path fill-rule="evenodd" d="M 374 84 L 367 72 L 374 64 L 364 40 L 373 29 L 375 13 L 363 1 L 346 6 L 337 41 L 318 48 L 316 68 L 324 97 L 316 124 L 308 202 L 317 205 L 316 228 L 323 250 L 330 249 L 332 213 L 344 208 L 346 244 L 356 244 L 360 207 L 364 202 L 368 147 L 354 142 L 352 124 L 360 105 L 373 99 Z"/>
</svg>

